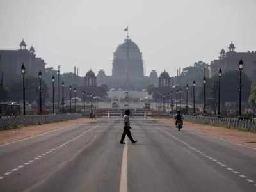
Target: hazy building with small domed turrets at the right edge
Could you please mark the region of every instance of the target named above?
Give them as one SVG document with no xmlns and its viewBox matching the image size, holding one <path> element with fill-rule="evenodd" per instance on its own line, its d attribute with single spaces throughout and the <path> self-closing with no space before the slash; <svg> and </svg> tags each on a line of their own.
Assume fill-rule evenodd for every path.
<svg viewBox="0 0 256 192">
<path fill-rule="evenodd" d="M 219 68 L 221 68 L 223 72 L 238 70 L 238 63 L 241 58 L 244 63 L 244 74 L 246 74 L 252 81 L 255 82 L 256 51 L 236 52 L 236 47 L 233 42 L 231 42 L 231 44 L 228 46 L 227 52 L 225 51 L 225 49 L 221 49 L 220 57 L 217 60 L 211 62 L 211 77 L 218 74 Z"/>
</svg>

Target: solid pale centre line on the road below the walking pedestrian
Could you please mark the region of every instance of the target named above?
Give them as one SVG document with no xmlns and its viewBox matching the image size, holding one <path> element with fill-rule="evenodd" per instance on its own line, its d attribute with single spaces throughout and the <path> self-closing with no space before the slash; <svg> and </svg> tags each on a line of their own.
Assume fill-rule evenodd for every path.
<svg viewBox="0 0 256 192">
<path fill-rule="evenodd" d="M 128 191 L 128 186 L 127 186 L 127 156 L 128 156 L 128 139 L 125 138 L 125 145 L 124 145 L 123 157 L 122 157 L 119 192 L 127 192 Z"/>
</svg>

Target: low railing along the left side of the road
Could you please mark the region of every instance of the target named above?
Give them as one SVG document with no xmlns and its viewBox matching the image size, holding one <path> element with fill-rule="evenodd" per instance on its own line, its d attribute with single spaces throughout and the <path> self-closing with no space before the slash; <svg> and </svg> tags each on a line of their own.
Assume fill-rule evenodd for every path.
<svg viewBox="0 0 256 192">
<path fill-rule="evenodd" d="M 10 129 L 17 125 L 38 125 L 81 118 L 80 113 L 56 115 L 5 116 L 0 118 L 0 129 Z"/>
</svg>

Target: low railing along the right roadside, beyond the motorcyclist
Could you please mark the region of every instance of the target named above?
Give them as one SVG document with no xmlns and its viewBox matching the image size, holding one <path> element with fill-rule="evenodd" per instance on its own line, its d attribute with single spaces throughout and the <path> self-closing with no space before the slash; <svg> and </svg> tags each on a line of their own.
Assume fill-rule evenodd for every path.
<svg viewBox="0 0 256 192">
<path fill-rule="evenodd" d="M 255 120 L 243 120 L 238 118 L 218 118 L 211 116 L 189 116 L 184 115 L 184 120 L 198 124 L 218 125 L 230 129 L 243 129 L 245 131 L 256 132 Z"/>
</svg>

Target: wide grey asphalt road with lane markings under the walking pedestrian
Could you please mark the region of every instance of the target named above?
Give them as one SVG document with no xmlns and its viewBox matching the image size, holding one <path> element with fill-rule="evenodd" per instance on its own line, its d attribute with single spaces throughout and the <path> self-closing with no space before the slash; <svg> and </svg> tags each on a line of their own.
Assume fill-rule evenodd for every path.
<svg viewBox="0 0 256 192">
<path fill-rule="evenodd" d="M 256 150 L 156 120 L 77 124 L 0 146 L 0 191 L 256 191 Z"/>
</svg>

